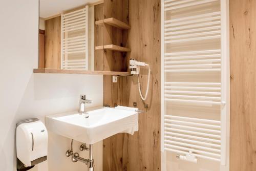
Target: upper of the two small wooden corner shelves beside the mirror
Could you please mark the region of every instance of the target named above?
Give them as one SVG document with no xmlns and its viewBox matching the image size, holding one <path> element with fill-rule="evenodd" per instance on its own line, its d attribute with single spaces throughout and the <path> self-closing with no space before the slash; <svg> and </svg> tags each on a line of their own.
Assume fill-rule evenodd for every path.
<svg viewBox="0 0 256 171">
<path fill-rule="evenodd" d="M 121 22 L 120 20 L 116 18 L 106 18 L 106 19 L 101 19 L 95 22 L 96 25 L 102 26 L 103 24 L 108 24 L 113 27 L 119 28 L 119 29 L 131 29 L 131 26 L 127 25 L 124 22 Z"/>
</svg>

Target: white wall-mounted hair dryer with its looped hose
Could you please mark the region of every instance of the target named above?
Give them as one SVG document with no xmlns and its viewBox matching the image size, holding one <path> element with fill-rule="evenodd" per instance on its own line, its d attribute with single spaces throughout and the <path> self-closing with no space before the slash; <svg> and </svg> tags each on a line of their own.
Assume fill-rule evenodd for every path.
<svg viewBox="0 0 256 171">
<path fill-rule="evenodd" d="M 140 66 L 141 67 L 148 67 L 147 88 L 146 88 L 145 97 L 142 96 L 142 93 L 141 93 L 141 90 L 140 90 L 140 80 L 139 80 Z M 130 70 L 131 70 L 131 74 L 137 75 L 137 78 L 138 78 L 138 88 L 139 88 L 141 99 L 142 100 L 146 100 L 147 93 L 148 93 L 148 88 L 150 87 L 150 73 L 151 73 L 150 65 L 148 65 L 145 62 L 140 62 L 140 61 L 137 61 L 135 59 L 130 59 Z"/>
</svg>

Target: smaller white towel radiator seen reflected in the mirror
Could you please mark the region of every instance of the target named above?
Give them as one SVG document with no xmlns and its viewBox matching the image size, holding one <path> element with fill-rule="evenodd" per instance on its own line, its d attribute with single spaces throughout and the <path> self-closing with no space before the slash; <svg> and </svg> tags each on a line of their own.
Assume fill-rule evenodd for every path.
<svg viewBox="0 0 256 171">
<path fill-rule="evenodd" d="M 88 70 L 89 6 L 61 14 L 61 69 Z"/>
</svg>

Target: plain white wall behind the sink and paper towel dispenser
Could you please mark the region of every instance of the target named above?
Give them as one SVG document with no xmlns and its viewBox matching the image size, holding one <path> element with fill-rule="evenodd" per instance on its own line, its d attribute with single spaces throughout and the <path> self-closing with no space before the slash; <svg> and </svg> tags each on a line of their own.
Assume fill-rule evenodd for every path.
<svg viewBox="0 0 256 171">
<path fill-rule="evenodd" d="M 0 20 L 0 170 L 11 171 L 16 170 L 16 122 L 76 110 L 80 94 L 93 100 L 90 106 L 102 105 L 102 76 L 33 74 L 38 63 L 38 1 L 0 1 Z M 75 142 L 76 152 L 79 145 Z M 69 148 L 69 139 L 49 133 L 48 162 L 34 170 L 86 170 L 65 156 Z M 101 143 L 95 153 L 96 170 L 101 170 Z"/>
</svg>

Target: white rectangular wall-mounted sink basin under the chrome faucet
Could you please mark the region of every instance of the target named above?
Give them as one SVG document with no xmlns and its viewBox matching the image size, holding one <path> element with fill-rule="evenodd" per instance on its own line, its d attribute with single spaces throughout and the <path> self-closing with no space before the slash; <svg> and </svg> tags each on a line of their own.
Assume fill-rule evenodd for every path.
<svg viewBox="0 0 256 171">
<path fill-rule="evenodd" d="M 138 112 L 117 108 L 77 111 L 46 116 L 48 131 L 87 144 L 94 144 L 117 133 L 138 131 Z"/>
</svg>

